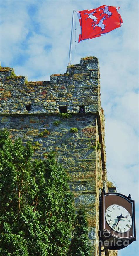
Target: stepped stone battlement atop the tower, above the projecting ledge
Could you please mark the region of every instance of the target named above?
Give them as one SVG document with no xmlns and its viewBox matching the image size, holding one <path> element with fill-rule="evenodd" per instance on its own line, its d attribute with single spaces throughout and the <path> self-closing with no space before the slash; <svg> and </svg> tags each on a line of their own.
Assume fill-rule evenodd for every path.
<svg viewBox="0 0 139 256">
<path fill-rule="evenodd" d="M 12 68 L 0 67 L 1 114 L 56 114 L 100 112 L 99 63 L 96 57 L 81 58 L 79 65 L 67 66 L 65 74 L 53 74 L 50 81 L 27 82 L 13 76 Z M 29 108 L 28 108 L 29 106 Z"/>
</svg>

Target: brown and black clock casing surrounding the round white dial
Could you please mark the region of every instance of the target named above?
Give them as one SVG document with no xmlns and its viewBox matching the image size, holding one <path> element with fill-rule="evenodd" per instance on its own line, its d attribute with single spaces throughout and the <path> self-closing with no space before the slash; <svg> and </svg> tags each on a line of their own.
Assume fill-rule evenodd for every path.
<svg viewBox="0 0 139 256">
<path fill-rule="evenodd" d="M 107 207 L 112 204 L 121 205 L 128 210 L 132 218 L 132 225 L 129 231 L 125 233 L 119 233 L 113 230 L 106 221 L 105 218 L 105 211 Z M 101 194 L 101 202 L 100 202 L 100 230 L 101 235 L 100 239 L 102 241 L 102 245 L 104 246 L 105 241 L 111 242 L 114 241 L 114 246 L 104 246 L 104 250 L 120 250 L 127 245 L 125 245 L 125 241 L 128 241 L 128 244 L 131 244 L 133 241 L 136 240 L 136 229 L 135 229 L 135 203 L 134 200 L 128 198 L 127 196 L 116 193 L 116 192 L 109 192 Z M 114 232 L 113 232 L 114 231 Z M 129 233 L 129 235 L 128 235 Z M 104 235 L 105 234 L 105 235 Z M 119 246 L 119 241 L 121 245 Z M 117 245 L 118 244 L 118 245 Z"/>
</svg>

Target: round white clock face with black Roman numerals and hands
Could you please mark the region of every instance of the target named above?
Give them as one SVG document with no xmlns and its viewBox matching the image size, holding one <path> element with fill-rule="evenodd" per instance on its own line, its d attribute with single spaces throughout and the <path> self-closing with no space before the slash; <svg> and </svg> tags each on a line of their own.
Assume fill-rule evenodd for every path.
<svg viewBox="0 0 139 256">
<path fill-rule="evenodd" d="M 123 206 L 117 204 L 112 204 L 106 209 L 105 218 L 108 225 L 120 233 L 127 232 L 132 225 L 130 213 Z"/>
</svg>

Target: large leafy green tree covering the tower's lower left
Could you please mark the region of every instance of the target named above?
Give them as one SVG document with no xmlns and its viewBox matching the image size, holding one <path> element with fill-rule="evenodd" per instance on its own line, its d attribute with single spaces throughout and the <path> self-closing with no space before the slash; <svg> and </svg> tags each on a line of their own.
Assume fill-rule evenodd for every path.
<svg viewBox="0 0 139 256">
<path fill-rule="evenodd" d="M 0 255 L 63 256 L 74 220 L 67 175 L 53 153 L 32 154 L 30 143 L 0 131 Z"/>
</svg>

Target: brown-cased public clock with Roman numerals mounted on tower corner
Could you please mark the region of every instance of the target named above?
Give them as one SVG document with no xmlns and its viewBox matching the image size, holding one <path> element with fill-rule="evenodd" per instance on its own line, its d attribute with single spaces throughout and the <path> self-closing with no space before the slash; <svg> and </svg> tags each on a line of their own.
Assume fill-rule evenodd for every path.
<svg viewBox="0 0 139 256">
<path fill-rule="evenodd" d="M 120 193 L 102 193 L 101 213 L 101 239 L 104 248 L 119 250 L 136 240 L 133 200 Z"/>
</svg>

